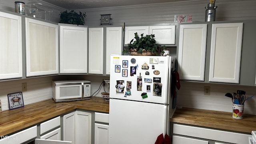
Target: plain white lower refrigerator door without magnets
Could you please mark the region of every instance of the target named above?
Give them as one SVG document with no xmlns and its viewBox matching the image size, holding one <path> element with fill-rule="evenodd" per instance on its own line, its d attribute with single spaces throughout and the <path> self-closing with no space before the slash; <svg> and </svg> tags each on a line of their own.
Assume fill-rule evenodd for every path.
<svg viewBox="0 0 256 144">
<path fill-rule="evenodd" d="M 168 132 L 167 108 L 163 104 L 110 99 L 109 144 L 154 144 L 160 134 Z"/>
</svg>

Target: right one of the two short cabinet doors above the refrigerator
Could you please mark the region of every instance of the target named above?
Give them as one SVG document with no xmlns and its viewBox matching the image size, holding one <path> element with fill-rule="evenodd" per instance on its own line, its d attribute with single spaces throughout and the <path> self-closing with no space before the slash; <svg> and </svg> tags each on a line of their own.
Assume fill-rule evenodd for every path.
<svg viewBox="0 0 256 144">
<path fill-rule="evenodd" d="M 149 26 L 149 34 L 154 34 L 158 44 L 175 44 L 176 26 Z"/>
</svg>

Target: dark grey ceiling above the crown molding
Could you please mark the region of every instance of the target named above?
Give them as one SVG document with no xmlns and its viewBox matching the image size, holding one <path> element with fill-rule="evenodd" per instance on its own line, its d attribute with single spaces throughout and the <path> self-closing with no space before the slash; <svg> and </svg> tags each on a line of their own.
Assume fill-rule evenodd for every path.
<svg viewBox="0 0 256 144">
<path fill-rule="evenodd" d="M 178 2 L 185 0 L 40 0 L 67 10 L 88 8 L 105 8 L 114 6 L 130 6 L 139 4 L 155 4 L 163 2 Z"/>
</svg>

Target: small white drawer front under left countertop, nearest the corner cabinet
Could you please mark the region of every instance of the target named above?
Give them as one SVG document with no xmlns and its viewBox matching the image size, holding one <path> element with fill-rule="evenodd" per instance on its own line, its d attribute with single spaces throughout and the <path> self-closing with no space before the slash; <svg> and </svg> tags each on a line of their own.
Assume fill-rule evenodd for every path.
<svg viewBox="0 0 256 144">
<path fill-rule="evenodd" d="M 43 134 L 44 132 L 47 132 L 48 130 L 52 130 L 53 128 L 56 128 L 58 126 L 60 126 L 60 116 L 41 123 L 40 134 Z"/>
</svg>

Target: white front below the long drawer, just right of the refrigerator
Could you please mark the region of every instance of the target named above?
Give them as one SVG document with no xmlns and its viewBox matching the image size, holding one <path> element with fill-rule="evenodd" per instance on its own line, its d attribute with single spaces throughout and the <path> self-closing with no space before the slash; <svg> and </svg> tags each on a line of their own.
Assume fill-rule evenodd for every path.
<svg viewBox="0 0 256 144">
<path fill-rule="evenodd" d="M 172 144 L 208 144 L 208 141 L 185 138 L 182 136 L 172 136 Z"/>
</svg>

